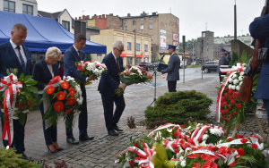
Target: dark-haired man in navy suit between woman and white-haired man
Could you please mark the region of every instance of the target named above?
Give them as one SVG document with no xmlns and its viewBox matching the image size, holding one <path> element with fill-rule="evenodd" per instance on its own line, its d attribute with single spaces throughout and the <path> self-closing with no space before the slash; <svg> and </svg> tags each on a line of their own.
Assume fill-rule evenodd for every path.
<svg viewBox="0 0 269 168">
<path fill-rule="evenodd" d="M 80 74 L 79 71 L 77 71 L 75 63 L 84 61 L 85 60 L 85 54 L 82 51 L 82 48 L 86 44 L 86 38 L 82 34 L 77 34 L 74 37 L 74 45 L 68 48 L 65 51 L 64 55 L 64 76 L 71 76 L 73 78 L 77 78 L 82 81 L 87 80 L 94 80 L 93 76 L 85 77 Z M 88 112 L 87 112 L 87 97 L 86 97 L 86 88 L 84 84 L 80 84 L 82 89 L 82 109 L 81 113 L 79 114 L 79 139 L 81 141 L 87 141 L 92 140 L 94 137 L 89 137 L 87 133 L 88 128 Z M 66 126 L 66 125 L 65 125 Z M 73 130 L 67 130 L 67 127 L 65 127 L 66 130 L 66 141 L 71 144 L 79 144 L 79 141 L 74 139 Z"/>
</svg>

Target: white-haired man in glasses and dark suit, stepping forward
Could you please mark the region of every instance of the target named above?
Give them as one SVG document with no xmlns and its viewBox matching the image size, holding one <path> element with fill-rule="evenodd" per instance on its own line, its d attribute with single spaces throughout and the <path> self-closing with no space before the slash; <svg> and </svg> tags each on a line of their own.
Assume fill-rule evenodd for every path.
<svg viewBox="0 0 269 168">
<path fill-rule="evenodd" d="M 98 87 L 103 102 L 106 127 L 110 136 L 117 136 L 118 131 L 123 131 L 117 127 L 117 122 L 126 107 L 125 98 L 123 95 L 118 97 L 115 94 L 117 88 L 126 89 L 126 84 L 120 83 L 118 75 L 119 72 L 124 71 L 123 60 L 120 57 L 123 51 L 124 44 L 121 41 L 116 41 L 113 44 L 112 52 L 106 55 L 102 61 L 106 64 L 108 71 L 102 73 Z M 113 113 L 114 103 L 116 110 Z"/>
</svg>

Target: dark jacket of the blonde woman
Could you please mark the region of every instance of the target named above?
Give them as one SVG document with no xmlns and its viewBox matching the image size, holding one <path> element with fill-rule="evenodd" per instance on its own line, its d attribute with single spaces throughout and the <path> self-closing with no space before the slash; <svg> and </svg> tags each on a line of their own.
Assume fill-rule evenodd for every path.
<svg viewBox="0 0 269 168">
<path fill-rule="evenodd" d="M 52 70 L 54 76 L 58 75 L 58 63 L 52 65 Z M 44 59 L 40 60 L 38 63 L 35 63 L 32 72 L 33 80 L 37 80 L 38 84 L 36 85 L 39 90 L 45 88 L 45 85 L 48 85 L 48 82 L 52 80 L 50 71 L 48 70 L 48 65 Z"/>
</svg>

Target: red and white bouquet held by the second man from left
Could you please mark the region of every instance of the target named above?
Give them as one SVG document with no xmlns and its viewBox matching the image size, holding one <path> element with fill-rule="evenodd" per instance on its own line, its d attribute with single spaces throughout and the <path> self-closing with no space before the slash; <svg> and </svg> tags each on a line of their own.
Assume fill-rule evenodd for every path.
<svg viewBox="0 0 269 168">
<path fill-rule="evenodd" d="M 77 62 L 76 68 L 81 73 L 81 75 L 85 77 L 94 75 L 96 78 L 98 78 L 103 72 L 107 71 L 107 66 L 104 63 L 100 62 L 91 63 L 90 61 L 87 61 L 86 63 L 84 61 Z M 78 83 L 82 83 L 81 80 L 78 79 L 75 80 Z M 84 84 L 91 85 L 91 81 L 86 81 Z"/>
</svg>

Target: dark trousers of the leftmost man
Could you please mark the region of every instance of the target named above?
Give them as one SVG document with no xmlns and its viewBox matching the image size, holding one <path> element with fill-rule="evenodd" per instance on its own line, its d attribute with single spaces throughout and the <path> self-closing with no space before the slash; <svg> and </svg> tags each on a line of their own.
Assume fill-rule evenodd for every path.
<svg viewBox="0 0 269 168">
<path fill-rule="evenodd" d="M 4 113 L 1 112 L 1 122 L 2 122 L 2 131 L 4 128 Z M 24 127 L 25 123 L 27 121 L 27 115 L 25 117 L 24 125 L 22 125 L 18 120 L 13 120 L 13 143 L 11 144 L 11 147 L 14 147 L 16 149 L 17 154 L 22 154 L 25 151 L 24 147 Z M 2 137 L 2 136 L 1 136 Z M 8 141 L 3 140 L 4 147 L 8 146 Z"/>
</svg>

